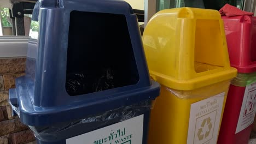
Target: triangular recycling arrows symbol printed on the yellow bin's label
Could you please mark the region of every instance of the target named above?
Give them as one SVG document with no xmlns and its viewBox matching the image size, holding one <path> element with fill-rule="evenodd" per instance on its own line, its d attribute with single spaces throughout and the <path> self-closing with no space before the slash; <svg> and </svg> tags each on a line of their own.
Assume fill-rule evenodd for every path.
<svg viewBox="0 0 256 144">
<path fill-rule="evenodd" d="M 197 132 L 197 137 L 200 141 L 203 140 L 203 138 L 207 138 L 210 135 L 210 131 L 212 129 L 211 120 L 212 119 L 210 117 L 208 117 L 206 119 L 203 119 L 203 122 L 201 124 L 201 128 Z M 204 127 L 208 127 L 208 130 L 205 133 L 203 133 L 203 128 Z"/>
</svg>

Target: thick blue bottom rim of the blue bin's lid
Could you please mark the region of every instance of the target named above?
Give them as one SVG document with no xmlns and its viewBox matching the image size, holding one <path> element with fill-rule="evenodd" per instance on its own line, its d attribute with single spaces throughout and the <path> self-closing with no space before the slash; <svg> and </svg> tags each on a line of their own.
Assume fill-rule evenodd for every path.
<svg viewBox="0 0 256 144">
<path fill-rule="evenodd" d="M 19 77 L 16 79 L 16 88 L 9 89 L 10 103 L 18 107 L 22 123 L 36 127 L 69 122 L 140 101 L 154 100 L 160 91 L 159 83 L 152 81 L 149 87 L 108 95 L 104 99 L 77 101 L 71 105 L 38 107 L 33 104 L 24 82 L 25 76 Z"/>
</svg>

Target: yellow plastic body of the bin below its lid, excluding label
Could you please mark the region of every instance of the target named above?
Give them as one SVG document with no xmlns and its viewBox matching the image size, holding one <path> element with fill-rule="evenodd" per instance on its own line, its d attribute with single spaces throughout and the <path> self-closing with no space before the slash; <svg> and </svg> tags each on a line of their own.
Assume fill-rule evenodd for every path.
<svg viewBox="0 0 256 144">
<path fill-rule="evenodd" d="M 154 107 L 151 110 L 148 144 L 186 144 L 190 105 L 225 92 L 222 109 L 223 116 L 229 84 L 230 80 L 191 91 L 176 91 L 162 86 L 161 95 L 156 98 Z M 179 98 L 181 95 L 175 95 L 174 93 L 190 95 L 190 97 Z M 218 125 L 215 127 L 218 127 Z"/>
</svg>

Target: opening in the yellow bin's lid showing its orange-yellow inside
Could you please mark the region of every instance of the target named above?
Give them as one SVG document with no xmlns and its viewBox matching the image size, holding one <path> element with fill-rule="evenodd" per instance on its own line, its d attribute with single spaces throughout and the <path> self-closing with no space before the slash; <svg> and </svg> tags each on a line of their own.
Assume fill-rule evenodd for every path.
<svg viewBox="0 0 256 144">
<path fill-rule="evenodd" d="M 219 20 L 196 20 L 195 63 L 196 73 L 224 67 L 225 44 Z"/>
</svg>

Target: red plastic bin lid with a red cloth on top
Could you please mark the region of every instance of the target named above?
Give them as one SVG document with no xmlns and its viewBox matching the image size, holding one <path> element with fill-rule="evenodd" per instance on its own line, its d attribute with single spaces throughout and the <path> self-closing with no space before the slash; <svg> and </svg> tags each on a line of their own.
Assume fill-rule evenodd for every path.
<svg viewBox="0 0 256 144">
<path fill-rule="evenodd" d="M 238 73 L 256 71 L 256 17 L 222 16 L 226 41 L 229 49 L 230 64 Z"/>
</svg>

